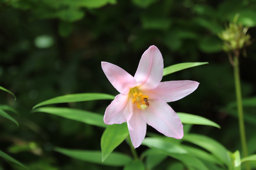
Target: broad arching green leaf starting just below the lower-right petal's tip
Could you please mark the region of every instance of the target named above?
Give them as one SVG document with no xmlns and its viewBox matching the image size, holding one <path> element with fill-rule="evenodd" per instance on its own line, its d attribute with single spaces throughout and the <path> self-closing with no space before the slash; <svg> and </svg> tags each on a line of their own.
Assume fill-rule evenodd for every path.
<svg viewBox="0 0 256 170">
<path fill-rule="evenodd" d="M 220 159 L 221 162 L 229 165 L 228 163 L 230 162 L 230 157 L 228 155 L 227 149 L 214 139 L 198 134 L 187 134 L 184 135 L 182 139 L 201 146 L 202 148 L 211 152 L 218 159 Z"/>
</svg>

